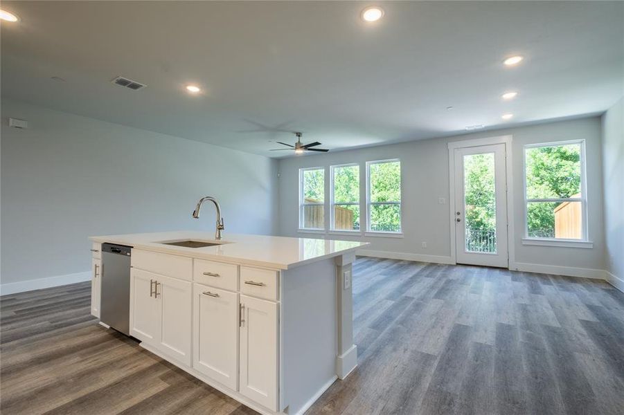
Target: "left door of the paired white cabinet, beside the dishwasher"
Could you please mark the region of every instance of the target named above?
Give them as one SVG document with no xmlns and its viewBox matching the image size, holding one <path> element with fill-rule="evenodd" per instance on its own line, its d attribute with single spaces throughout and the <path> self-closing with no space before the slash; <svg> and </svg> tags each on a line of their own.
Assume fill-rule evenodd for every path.
<svg viewBox="0 0 624 415">
<path fill-rule="evenodd" d="M 161 339 L 161 302 L 154 296 L 152 282 L 159 275 L 132 269 L 130 287 L 130 334 L 157 346 Z"/>
</svg>

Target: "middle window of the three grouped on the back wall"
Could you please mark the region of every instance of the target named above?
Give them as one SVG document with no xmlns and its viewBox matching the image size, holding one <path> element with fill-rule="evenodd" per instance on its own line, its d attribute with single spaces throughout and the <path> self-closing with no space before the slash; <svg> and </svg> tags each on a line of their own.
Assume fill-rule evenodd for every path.
<svg viewBox="0 0 624 415">
<path fill-rule="evenodd" d="M 332 230 L 359 230 L 359 166 L 332 166 Z"/>
</svg>

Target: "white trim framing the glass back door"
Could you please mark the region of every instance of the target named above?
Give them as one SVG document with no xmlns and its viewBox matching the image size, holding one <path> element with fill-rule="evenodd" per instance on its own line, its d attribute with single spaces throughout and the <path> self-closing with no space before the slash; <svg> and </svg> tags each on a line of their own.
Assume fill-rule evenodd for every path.
<svg viewBox="0 0 624 415">
<path fill-rule="evenodd" d="M 460 140 L 448 143 L 449 147 L 449 241 L 451 243 L 451 261 L 457 264 L 457 251 L 455 246 L 455 149 L 466 147 L 479 147 L 481 145 L 504 144 L 505 145 L 505 171 L 507 185 L 507 268 L 515 264 L 514 244 L 514 215 L 513 215 L 513 169 L 512 169 L 512 140 L 513 136 L 496 136 L 488 138 L 476 138 L 474 140 Z"/>
</svg>

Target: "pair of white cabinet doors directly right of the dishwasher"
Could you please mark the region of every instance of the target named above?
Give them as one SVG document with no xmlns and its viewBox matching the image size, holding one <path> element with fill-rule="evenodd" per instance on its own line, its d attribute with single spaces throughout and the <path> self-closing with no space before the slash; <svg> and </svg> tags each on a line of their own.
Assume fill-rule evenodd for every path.
<svg viewBox="0 0 624 415">
<path fill-rule="evenodd" d="M 190 282 L 133 268 L 130 334 L 190 366 Z"/>
</svg>

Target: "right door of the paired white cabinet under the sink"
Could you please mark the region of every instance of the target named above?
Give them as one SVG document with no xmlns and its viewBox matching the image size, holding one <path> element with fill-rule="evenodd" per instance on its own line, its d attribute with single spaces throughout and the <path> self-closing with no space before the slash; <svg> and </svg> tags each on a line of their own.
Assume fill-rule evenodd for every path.
<svg viewBox="0 0 624 415">
<path fill-rule="evenodd" d="M 156 295 L 162 310 L 159 349 L 190 367 L 193 286 L 181 279 L 157 277 Z"/>
</svg>

